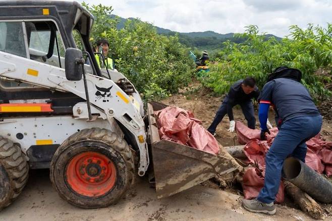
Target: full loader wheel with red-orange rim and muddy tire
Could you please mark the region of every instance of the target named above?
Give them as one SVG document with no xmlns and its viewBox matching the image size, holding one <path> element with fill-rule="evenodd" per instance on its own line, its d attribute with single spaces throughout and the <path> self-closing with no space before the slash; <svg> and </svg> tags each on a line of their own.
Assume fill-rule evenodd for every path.
<svg viewBox="0 0 332 221">
<path fill-rule="evenodd" d="M 134 154 L 122 137 L 106 129 L 84 129 L 54 153 L 50 180 L 73 205 L 106 207 L 131 187 L 134 169 Z"/>
</svg>

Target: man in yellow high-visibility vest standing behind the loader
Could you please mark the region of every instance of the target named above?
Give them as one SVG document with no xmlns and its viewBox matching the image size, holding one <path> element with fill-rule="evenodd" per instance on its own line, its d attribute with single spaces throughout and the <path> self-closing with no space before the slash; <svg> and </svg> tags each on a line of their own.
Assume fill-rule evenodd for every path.
<svg viewBox="0 0 332 221">
<path fill-rule="evenodd" d="M 106 39 L 100 39 L 96 42 L 95 50 L 96 52 L 102 53 L 104 60 L 101 58 L 100 54 L 95 54 L 99 68 L 107 68 L 113 70 L 113 60 L 107 57 L 109 43 Z M 105 63 L 105 64 L 104 64 Z"/>
</svg>

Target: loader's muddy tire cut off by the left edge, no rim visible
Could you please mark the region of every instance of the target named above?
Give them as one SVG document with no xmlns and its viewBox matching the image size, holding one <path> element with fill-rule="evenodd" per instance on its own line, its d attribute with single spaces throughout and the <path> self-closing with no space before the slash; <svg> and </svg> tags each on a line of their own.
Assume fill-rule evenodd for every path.
<svg viewBox="0 0 332 221">
<path fill-rule="evenodd" d="M 0 210 L 11 204 L 28 181 L 29 165 L 21 148 L 0 137 Z"/>
</svg>

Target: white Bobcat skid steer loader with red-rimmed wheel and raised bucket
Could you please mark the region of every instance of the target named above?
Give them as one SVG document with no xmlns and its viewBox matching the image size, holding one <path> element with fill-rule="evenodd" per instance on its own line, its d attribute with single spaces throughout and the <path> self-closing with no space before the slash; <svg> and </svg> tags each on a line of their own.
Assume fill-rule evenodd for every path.
<svg viewBox="0 0 332 221">
<path fill-rule="evenodd" d="M 148 103 L 145 114 L 123 74 L 99 69 L 92 23 L 76 2 L 0 2 L 0 209 L 29 169 L 49 168 L 59 195 L 83 208 L 116 202 L 148 169 L 158 198 L 235 170 L 160 140 L 154 111 L 165 105 Z"/>
</svg>

